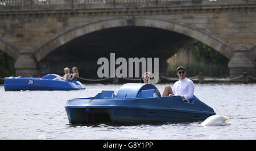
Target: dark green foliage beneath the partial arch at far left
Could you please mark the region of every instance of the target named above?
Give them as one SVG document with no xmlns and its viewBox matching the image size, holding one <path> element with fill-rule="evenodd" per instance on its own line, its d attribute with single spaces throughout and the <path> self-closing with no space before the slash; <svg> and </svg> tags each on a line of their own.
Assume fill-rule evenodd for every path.
<svg viewBox="0 0 256 151">
<path fill-rule="evenodd" d="M 15 76 L 14 59 L 0 50 L 0 77 Z"/>
</svg>

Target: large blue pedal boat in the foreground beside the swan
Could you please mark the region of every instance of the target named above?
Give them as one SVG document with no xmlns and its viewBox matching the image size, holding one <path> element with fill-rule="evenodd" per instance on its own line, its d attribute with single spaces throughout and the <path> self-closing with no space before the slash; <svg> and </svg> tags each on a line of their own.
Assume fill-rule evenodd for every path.
<svg viewBox="0 0 256 151">
<path fill-rule="evenodd" d="M 152 84 L 124 84 L 116 95 L 102 90 L 95 97 L 68 100 L 65 110 L 71 124 L 191 122 L 215 115 L 196 96 L 189 103 L 180 96 L 160 97 Z"/>
</svg>

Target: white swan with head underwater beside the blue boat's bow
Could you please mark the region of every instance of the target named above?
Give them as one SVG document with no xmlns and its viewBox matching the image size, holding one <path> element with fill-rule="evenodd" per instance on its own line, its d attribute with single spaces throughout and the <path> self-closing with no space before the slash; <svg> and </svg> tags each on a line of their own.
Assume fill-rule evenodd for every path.
<svg viewBox="0 0 256 151">
<path fill-rule="evenodd" d="M 205 119 L 201 126 L 229 126 L 232 122 L 227 122 L 229 120 L 224 115 L 212 115 Z"/>
</svg>

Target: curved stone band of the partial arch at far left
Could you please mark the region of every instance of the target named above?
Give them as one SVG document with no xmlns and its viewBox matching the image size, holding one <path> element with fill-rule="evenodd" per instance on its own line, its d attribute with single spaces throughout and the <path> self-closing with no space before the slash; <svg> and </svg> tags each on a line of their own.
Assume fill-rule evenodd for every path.
<svg viewBox="0 0 256 151">
<path fill-rule="evenodd" d="M 13 57 L 15 60 L 19 57 L 19 49 L 0 37 L 0 50 Z"/>
</svg>

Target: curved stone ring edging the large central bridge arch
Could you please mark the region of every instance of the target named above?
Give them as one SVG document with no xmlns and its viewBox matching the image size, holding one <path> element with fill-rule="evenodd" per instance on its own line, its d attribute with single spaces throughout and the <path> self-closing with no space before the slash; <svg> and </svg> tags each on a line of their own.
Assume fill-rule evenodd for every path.
<svg viewBox="0 0 256 151">
<path fill-rule="evenodd" d="M 34 55 L 37 61 L 40 61 L 47 54 L 51 53 L 59 46 L 80 37 L 84 34 L 88 34 L 95 31 L 100 31 L 101 29 L 114 28 L 114 27 L 127 27 L 127 26 L 138 26 L 138 27 L 152 27 L 166 29 L 169 31 L 184 34 L 188 37 L 192 37 L 195 40 L 204 42 L 204 44 L 209 45 L 213 49 L 219 51 L 221 54 L 225 55 L 228 59 L 233 56 L 233 47 L 226 42 L 222 41 L 220 38 L 213 36 L 212 34 L 197 28 L 192 25 L 181 23 L 176 20 L 162 19 L 162 18 L 151 18 L 144 16 L 129 16 L 129 17 L 118 17 L 92 21 L 79 27 L 71 28 L 68 31 L 58 34 L 57 36 L 51 38 L 44 45 L 34 51 Z"/>
</svg>

